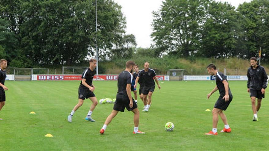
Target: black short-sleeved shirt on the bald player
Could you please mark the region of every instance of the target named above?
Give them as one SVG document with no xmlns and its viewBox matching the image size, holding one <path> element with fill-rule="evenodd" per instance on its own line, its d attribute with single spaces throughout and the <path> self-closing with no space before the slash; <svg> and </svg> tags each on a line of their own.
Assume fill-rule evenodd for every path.
<svg viewBox="0 0 269 151">
<path fill-rule="evenodd" d="M 138 73 L 139 79 L 142 78 L 144 81 L 145 86 L 155 86 L 155 82 L 153 80 L 153 77 L 156 76 L 156 73 L 153 69 L 149 69 L 148 72 L 144 70 L 141 70 Z"/>
</svg>

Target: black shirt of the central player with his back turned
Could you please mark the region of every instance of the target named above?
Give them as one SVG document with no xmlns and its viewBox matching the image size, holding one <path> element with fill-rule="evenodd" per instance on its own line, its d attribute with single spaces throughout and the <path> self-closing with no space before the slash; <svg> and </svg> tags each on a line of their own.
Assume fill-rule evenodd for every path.
<svg viewBox="0 0 269 151">
<path fill-rule="evenodd" d="M 131 84 L 133 79 L 133 75 L 129 71 L 123 71 L 119 74 L 118 77 L 118 94 L 127 95 L 126 86 L 127 84 Z"/>
</svg>

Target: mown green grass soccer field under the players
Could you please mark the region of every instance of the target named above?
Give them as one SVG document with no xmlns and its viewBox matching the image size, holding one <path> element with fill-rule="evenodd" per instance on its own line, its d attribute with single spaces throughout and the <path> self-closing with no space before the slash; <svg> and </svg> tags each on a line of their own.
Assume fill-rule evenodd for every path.
<svg viewBox="0 0 269 151">
<path fill-rule="evenodd" d="M 252 109 L 246 81 L 229 81 L 233 101 L 225 114 L 231 133 L 220 133 L 224 124 L 219 118 L 217 136 L 204 135 L 212 129 L 215 81 L 164 81 L 153 93 L 148 113 L 142 112 L 138 99 L 139 129 L 144 135 L 132 134 L 133 113 L 119 112 L 104 135 L 99 131 L 113 104 L 96 107 L 85 121 L 91 101 L 87 99 L 76 111 L 72 123 L 68 114 L 78 102 L 80 81 L 6 81 L 6 105 L 0 111 L 0 150 L 267 150 L 269 144 L 268 92 L 252 121 Z M 97 99 L 116 98 L 117 81 L 94 81 Z M 267 90 L 268 91 L 268 90 Z M 132 93 L 133 95 L 133 93 Z M 36 114 L 29 114 L 34 111 Z M 164 130 L 167 122 L 174 131 Z M 46 134 L 53 137 L 44 137 Z"/>
</svg>

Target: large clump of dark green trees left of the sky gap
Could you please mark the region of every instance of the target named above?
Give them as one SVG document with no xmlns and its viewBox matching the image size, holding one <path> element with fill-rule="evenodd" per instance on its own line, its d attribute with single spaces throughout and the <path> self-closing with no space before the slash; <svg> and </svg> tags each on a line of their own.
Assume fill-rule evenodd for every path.
<svg viewBox="0 0 269 151">
<path fill-rule="evenodd" d="M 95 5 L 95 0 L 4 0 L 0 18 L 10 22 L 17 50 L 33 64 L 71 65 L 94 56 L 96 43 L 101 54 L 109 51 L 114 35 L 125 32 L 121 7 L 113 0 L 97 1 L 96 32 Z"/>
</svg>

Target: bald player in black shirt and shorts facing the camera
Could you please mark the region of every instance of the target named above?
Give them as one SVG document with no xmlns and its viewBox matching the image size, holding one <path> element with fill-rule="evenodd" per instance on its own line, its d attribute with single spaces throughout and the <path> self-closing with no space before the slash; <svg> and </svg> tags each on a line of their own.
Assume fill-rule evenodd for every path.
<svg viewBox="0 0 269 151">
<path fill-rule="evenodd" d="M 145 68 L 144 70 L 141 70 L 138 73 L 138 77 L 135 80 L 135 86 L 134 87 L 136 88 L 138 80 L 140 78 L 142 78 L 143 81 L 144 81 L 144 84 L 145 84 L 144 87 L 143 87 L 143 90 L 142 90 L 143 102 L 144 102 L 144 105 L 145 105 L 143 111 L 148 112 L 149 107 L 150 107 L 150 103 L 151 103 L 151 96 L 152 96 L 152 94 L 154 92 L 154 89 L 155 89 L 154 80 L 156 81 L 156 83 L 158 85 L 158 88 L 161 89 L 161 87 L 159 85 L 158 79 L 156 78 L 155 71 L 153 69 L 149 69 L 149 63 L 148 62 L 146 62 L 144 64 L 144 68 Z"/>
</svg>

